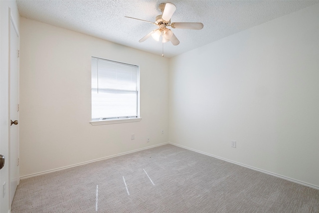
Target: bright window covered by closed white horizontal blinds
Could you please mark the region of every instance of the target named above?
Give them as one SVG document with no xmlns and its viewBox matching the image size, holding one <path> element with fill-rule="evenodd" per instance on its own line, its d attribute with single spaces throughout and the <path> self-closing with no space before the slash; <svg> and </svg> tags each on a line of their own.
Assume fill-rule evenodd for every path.
<svg viewBox="0 0 319 213">
<path fill-rule="evenodd" d="M 140 119 L 139 67 L 92 57 L 92 125 Z"/>
</svg>

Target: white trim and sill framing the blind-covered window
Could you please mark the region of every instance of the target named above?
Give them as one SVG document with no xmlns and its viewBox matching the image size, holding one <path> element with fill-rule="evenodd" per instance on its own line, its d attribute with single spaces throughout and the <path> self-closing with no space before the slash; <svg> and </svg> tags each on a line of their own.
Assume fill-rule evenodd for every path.
<svg viewBox="0 0 319 213">
<path fill-rule="evenodd" d="M 105 59 L 105 58 L 100 58 L 100 57 L 96 57 L 96 56 L 91 56 L 91 58 L 94 57 L 94 58 L 98 58 L 98 59 L 102 59 L 102 60 L 108 60 L 108 61 L 114 61 L 114 60 L 110 60 L 110 59 Z M 134 64 L 129 64 L 129 63 L 125 63 L 125 62 L 121 62 L 121 61 L 114 61 L 114 62 L 117 62 L 117 63 L 123 63 L 123 64 L 127 64 L 127 65 L 134 65 Z M 138 100 L 137 100 L 137 104 L 138 104 L 138 112 L 137 112 L 137 117 L 132 117 L 132 118 L 108 118 L 108 119 L 100 119 L 100 120 L 97 120 L 97 119 L 92 119 L 92 107 L 91 107 L 91 121 L 90 121 L 90 124 L 92 126 L 96 126 L 96 125 L 105 125 L 105 124 L 118 124 L 118 123 L 130 123 L 130 122 L 139 122 L 142 120 L 141 118 L 141 93 L 140 93 L 140 66 L 139 65 L 134 65 L 134 66 L 137 66 L 137 69 L 138 69 L 138 73 L 137 73 L 137 90 L 138 90 Z M 91 67 L 92 67 L 92 64 L 91 64 Z M 92 73 L 92 71 L 91 71 Z M 92 75 L 92 74 L 91 74 Z M 91 77 L 92 79 L 92 77 Z M 92 86 L 91 86 L 91 89 L 92 89 Z M 91 95 L 92 97 L 92 95 Z M 91 104 L 92 104 L 92 100 L 91 100 Z"/>
</svg>

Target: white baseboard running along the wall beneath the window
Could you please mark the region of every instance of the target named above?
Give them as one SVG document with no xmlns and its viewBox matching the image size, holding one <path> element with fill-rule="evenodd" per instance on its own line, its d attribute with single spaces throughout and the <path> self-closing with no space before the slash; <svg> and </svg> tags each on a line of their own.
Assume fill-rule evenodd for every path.
<svg viewBox="0 0 319 213">
<path fill-rule="evenodd" d="M 45 175 L 45 174 L 49 174 L 49 173 L 53 173 L 53 172 L 58 172 L 58 171 L 61 171 L 61 170 L 66 170 L 66 169 L 70 169 L 70 168 L 73 168 L 73 167 L 78 167 L 78 166 L 82 166 L 82 165 L 86 165 L 86 164 L 90 164 L 90 163 L 94 163 L 94 162 L 98 162 L 98 161 L 103 161 L 103 160 L 106 160 L 106 159 L 109 159 L 109 158 L 114 158 L 114 157 L 118 157 L 118 156 L 121 156 L 121 155 L 127 155 L 127 154 L 130 154 L 130 153 L 134 153 L 134 152 L 138 152 L 138 151 L 142 151 L 142 150 L 146 150 L 146 149 L 151 149 L 151 148 L 162 146 L 162 145 L 165 145 L 165 144 L 168 144 L 168 142 L 162 143 L 162 144 L 157 144 L 157 145 L 154 145 L 154 146 L 145 147 L 145 148 L 142 148 L 142 149 L 129 151 L 129 152 L 124 152 L 124 153 L 120 153 L 120 154 L 116 154 L 116 155 L 111 155 L 111 156 L 108 156 L 108 157 L 99 158 L 99 159 L 92 160 L 92 161 L 86 161 L 86 162 L 83 162 L 83 163 L 80 163 L 80 164 L 74 164 L 74 165 L 71 165 L 71 166 L 66 166 L 66 167 L 61 167 L 61 168 L 48 170 L 48 171 L 44 171 L 44 172 L 34 173 L 34 174 L 31 174 L 31 175 L 21 176 L 20 180 L 28 179 L 28 178 L 32 178 L 32 177 L 36 177 L 36 176 L 40 176 L 40 175 Z"/>
</svg>

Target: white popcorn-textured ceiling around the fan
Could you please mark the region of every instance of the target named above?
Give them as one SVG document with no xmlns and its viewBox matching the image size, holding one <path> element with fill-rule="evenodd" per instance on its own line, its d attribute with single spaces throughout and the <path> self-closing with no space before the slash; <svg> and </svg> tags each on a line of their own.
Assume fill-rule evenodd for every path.
<svg viewBox="0 0 319 213">
<path fill-rule="evenodd" d="M 139 40 L 157 26 L 165 0 L 16 0 L 21 16 L 161 55 L 161 43 Z M 201 30 L 172 29 L 180 43 L 164 43 L 172 57 L 236 32 L 318 3 L 319 0 L 169 0 L 172 22 L 202 22 Z M 170 28 L 170 27 L 168 27 Z"/>
</svg>

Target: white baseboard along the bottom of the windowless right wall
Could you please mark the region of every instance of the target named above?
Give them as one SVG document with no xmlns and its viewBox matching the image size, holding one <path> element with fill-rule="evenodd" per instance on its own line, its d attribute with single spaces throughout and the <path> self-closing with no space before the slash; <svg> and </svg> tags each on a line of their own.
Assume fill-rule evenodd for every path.
<svg viewBox="0 0 319 213">
<path fill-rule="evenodd" d="M 298 181 L 298 180 L 295 180 L 295 179 L 292 179 L 292 178 L 288 178 L 286 176 L 278 175 L 278 174 L 275 174 L 275 173 L 272 173 L 272 172 L 268 172 L 268 171 L 265 171 L 265 170 L 262 170 L 262 169 L 258 169 L 258 168 L 251 167 L 251 166 L 248 166 L 248 165 L 245 165 L 245 164 L 241 164 L 241 163 L 238 163 L 238 162 L 235 162 L 235 161 L 231 161 L 231 160 L 228 160 L 228 159 L 225 159 L 225 158 L 221 158 L 221 157 L 218 157 L 218 156 L 215 156 L 215 155 L 211 155 L 211 154 L 208 154 L 208 153 L 205 153 L 205 152 L 201 152 L 201 151 L 198 151 L 198 150 L 195 150 L 195 149 L 192 149 L 192 148 L 188 148 L 188 147 L 185 147 L 185 146 L 182 146 L 182 145 L 179 145 L 179 144 L 174 144 L 174 143 L 171 143 L 171 142 L 168 142 L 168 144 L 174 145 L 176 147 L 181 147 L 181 148 L 184 148 L 184 149 L 187 149 L 187 150 L 190 150 L 190 151 L 194 151 L 194 152 L 197 152 L 197 153 L 200 153 L 200 154 L 208 155 L 210 157 L 217 158 L 217 159 L 222 160 L 222 161 L 226 161 L 226 162 L 229 162 L 229 163 L 232 163 L 232 164 L 236 164 L 236 165 L 239 165 L 239 166 L 242 166 L 242 167 L 245 167 L 245 168 L 248 168 L 248 169 L 252 169 L 252 170 L 255 170 L 255 171 L 258 171 L 258 172 L 262 172 L 262 173 L 265 173 L 267 175 L 275 176 L 277 178 L 281 178 L 281 179 L 284 179 L 286 181 L 290 181 L 290 182 L 293 182 L 293 183 L 296 183 L 296 184 L 300 184 L 300 185 L 303 185 L 303 186 L 306 186 L 306 187 L 310 187 L 310 188 L 313 188 L 315 190 L 319 190 L 319 186 L 315 186 L 315 185 L 308 184 L 308 183 L 305 183 L 305 182 L 302 182 L 302 181 Z"/>
</svg>

